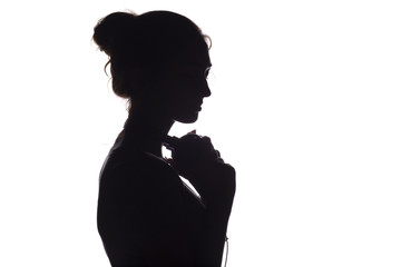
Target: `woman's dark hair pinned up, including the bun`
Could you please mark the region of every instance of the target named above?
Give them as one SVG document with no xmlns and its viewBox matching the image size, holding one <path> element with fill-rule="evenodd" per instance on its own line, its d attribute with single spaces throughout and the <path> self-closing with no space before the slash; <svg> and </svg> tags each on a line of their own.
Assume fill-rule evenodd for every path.
<svg viewBox="0 0 401 267">
<path fill-rule="evenodd" d="M 133 88 L 127 76 L 134 68 L 156 75 L 165 63 L 189 42 L 207 36 L 188 18 L 169 12 L 151 11 L 140 16 L 133 12 L 114 12 L 99 20 L 94 40 L 109 56 L 114 92 L 131 100 Z"/>
</svg>

